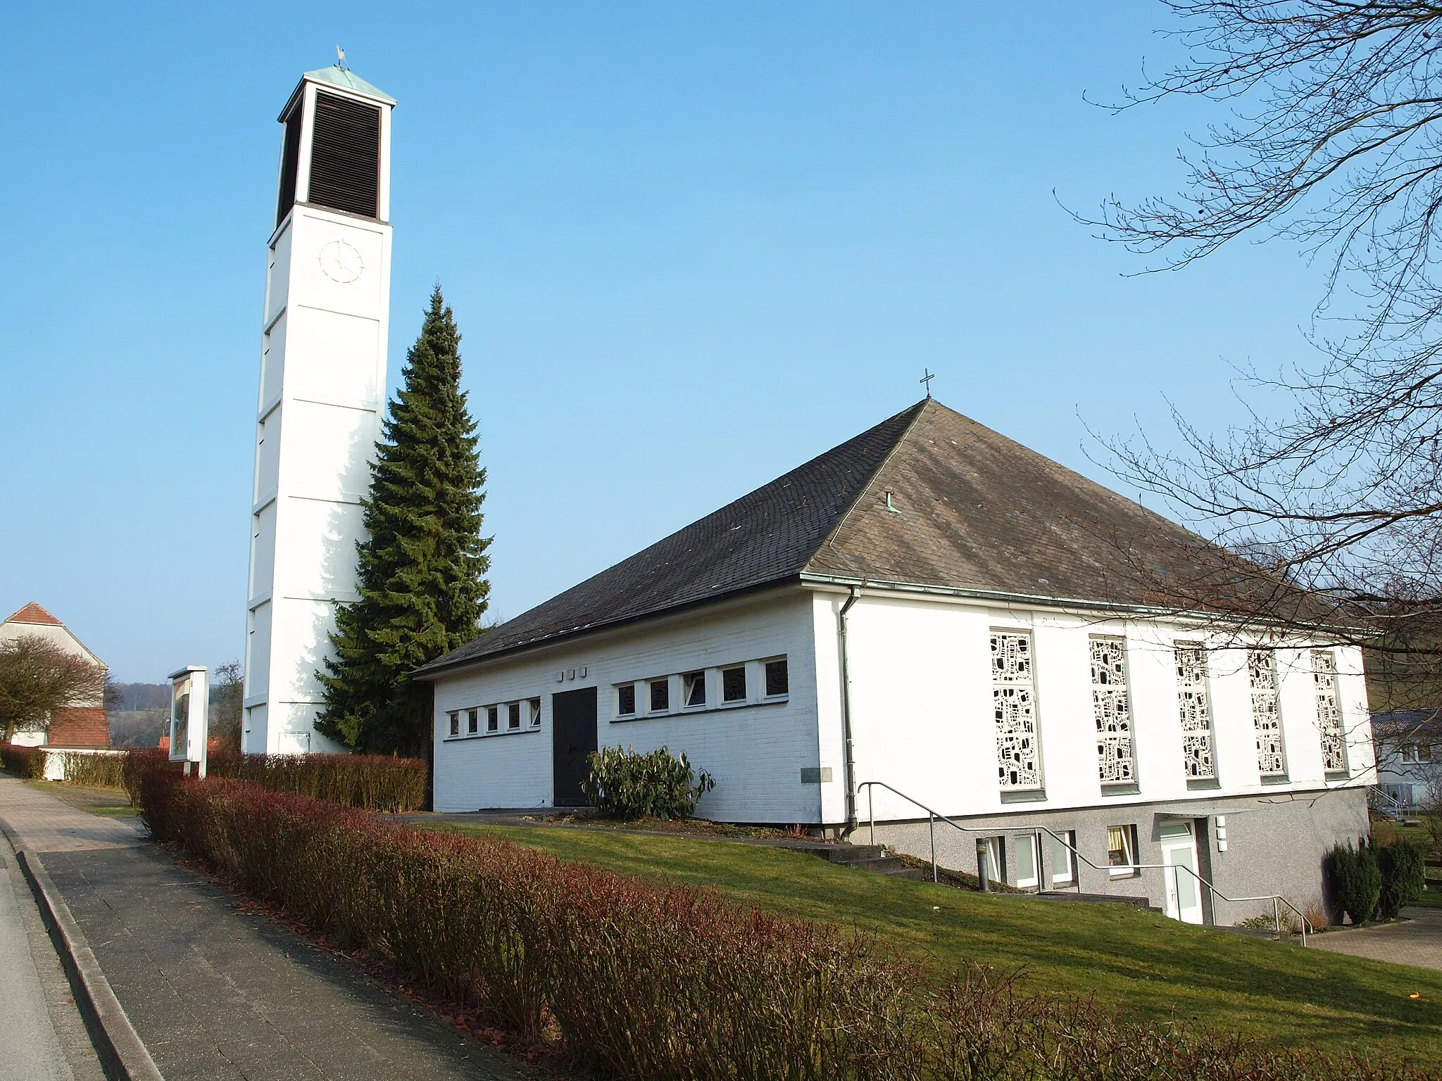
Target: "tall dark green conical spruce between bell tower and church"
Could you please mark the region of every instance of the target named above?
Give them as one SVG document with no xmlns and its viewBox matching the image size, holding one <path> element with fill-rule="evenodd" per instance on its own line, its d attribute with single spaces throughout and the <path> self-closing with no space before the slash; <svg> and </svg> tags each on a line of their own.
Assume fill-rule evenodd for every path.
<svg viewBox="0 0 1442 1081">
<path fill-rule="evenodd" d="M 490 594 L 486 471 L 460 389 L 460 333 L 438 284 L 402 383 L 362 502 L 360 600 L 337 608 L 336 657 L 317 673 L 326 705 L 316 728 L 372 754 L 428 745 L 431 689 L 410 672 L 473 639 Z"/>
</svg>

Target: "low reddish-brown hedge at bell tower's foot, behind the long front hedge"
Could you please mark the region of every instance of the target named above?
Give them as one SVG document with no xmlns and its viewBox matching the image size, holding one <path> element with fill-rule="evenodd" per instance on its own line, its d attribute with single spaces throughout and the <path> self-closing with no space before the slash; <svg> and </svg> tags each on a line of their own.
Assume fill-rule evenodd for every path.
<svg viewBox="0 0 1442 1081">
<path fill-rule="evenodd" d="M 140 806 L 143 778 L 151 773 L 180 775 L 180 762 L 164 751 L 131 751 L 124 786 L 133 806 Z M 414 811 L 425 804 L 425 761 L 365 754 L 239 754 L 213 751 L 206 761 L 211 777 L 258 784 L 267 791 L 311 796 L 379 811 Z"/>
</svg>

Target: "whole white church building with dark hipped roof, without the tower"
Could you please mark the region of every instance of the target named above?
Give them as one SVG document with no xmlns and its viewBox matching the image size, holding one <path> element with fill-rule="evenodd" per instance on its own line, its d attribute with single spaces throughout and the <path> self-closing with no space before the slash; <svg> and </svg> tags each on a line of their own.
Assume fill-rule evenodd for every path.
<svg viewBox="0 0 1442 1081">
<path fill-rule="evenodd" d="M 1236 566 L 926 399 L 420 669 L 435 809 L 578 804 L 590 751 L 665 745 L 712 819 L 926 858 L 934 811 L 943 866 L 1024 889 L 1321 907 L 1368 833 L 1361 654 L 1161 602 L 1200 558 Z"/>
</svg>

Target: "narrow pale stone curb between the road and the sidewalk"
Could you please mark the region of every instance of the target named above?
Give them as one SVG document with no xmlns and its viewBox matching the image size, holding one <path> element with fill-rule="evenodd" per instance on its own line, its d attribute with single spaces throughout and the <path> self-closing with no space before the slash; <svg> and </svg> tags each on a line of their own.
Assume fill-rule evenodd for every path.
<svg viewBox="0 0 1442 1081">
<path fill-rule="evenodd" d="M 23 848 L 9 823 L 0 822 L 0 830 L 4 830 L 10 840 L 16 863 L 25 872 L 30 892 L 40 905 L 45 930 L 50 933 L 50 941 L 65 966 L 65 976 L 75 993 L 75 1005 L 85 1019 L 85 1028 L 89 1029 L 105 1077 L 111 1081 L 164 1081 L 140 1033 L 130 1023 L 124 1006 L 115 997 L 110 980 L 105 979 L 99 961 L 85 941 L 85 934 L 71 915 L 69 905 L 50 881 L 45 863 L 36 853 Z"/>
</svg>

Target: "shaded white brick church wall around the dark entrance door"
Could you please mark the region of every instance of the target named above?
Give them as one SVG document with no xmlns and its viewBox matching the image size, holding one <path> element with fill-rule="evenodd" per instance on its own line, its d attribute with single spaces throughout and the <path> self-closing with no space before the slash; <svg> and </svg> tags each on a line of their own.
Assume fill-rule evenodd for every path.
<svg viewBox="0 0 1442 1081">
<path fill-rule="evenodd" d="M 551 695 L 597 688 L 600 747 L 649 751 L 668 747 L 686 752 L 695 770 L 705 770 L 717 787 L 699 813 L 737 822 L 816 823 L 820 788 L 803 781 L 802 770 L 816 765 L 816 676 L 808 595 L 754 598 L 718 605 L 647 626 L 617 630 L 557 647 L 502 659 L 482 669 L 443 676 L 435 685 L 435 806 L 437 810 L 549 806 L 552 791 Z M 751 666 L 748 700 L 721 705 L 720 686 L 708 686 L 705 709 L 679 708 L 666 716 L 619 719 L 619 683 L 679 676 L 738 662 L 784 656 L 790 692 L 784 700 L 763 702 L 763 675 Z M 577 673 L 570 677 L 570 673 Z M 584 675 L 581 675 L 584 672 Z M 558 673 L 564 673 L 558 679 Z M 637 703 L 645 712 L 645 686 Z M 539 698 L 539 735 L 447 737 L 447 713 L 490 703 Z M 485 715 L 480 719 L 485 732 Z"/>
</svg>

